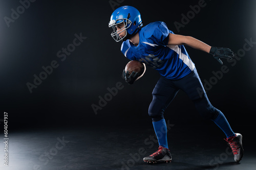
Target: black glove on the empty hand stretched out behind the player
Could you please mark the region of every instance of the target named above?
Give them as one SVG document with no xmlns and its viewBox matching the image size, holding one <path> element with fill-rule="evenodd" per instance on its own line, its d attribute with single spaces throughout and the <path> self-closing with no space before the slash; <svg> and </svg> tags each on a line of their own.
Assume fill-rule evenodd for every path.
<svg viewBox="0 0 256 170">
<path fill-rule="evenodd" d="M 233 52 L 229 48 L 219 48 L 216 46 L 212 46 L 210 48 L 210 54 L 221 64 L 223 64 L 223 62 L 220 58 L 232 60 L 232 57 L 234 56 Z"/>
</svg>

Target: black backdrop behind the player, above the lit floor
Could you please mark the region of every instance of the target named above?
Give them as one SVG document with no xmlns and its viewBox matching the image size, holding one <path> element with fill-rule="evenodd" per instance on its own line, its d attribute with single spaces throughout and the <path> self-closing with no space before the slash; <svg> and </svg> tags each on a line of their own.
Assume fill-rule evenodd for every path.
<svg viewBox="0 0 256 170">
<path fill-rule="evenodd" d="M 108 27 L 113 8 L 130 5 L 137 8 L 144 26 L 164 21 L 175 34 L 193 36 L 211 46 L 229 47 L 237 53 L 245 39 L 256 41 L 255 1 L 205 1 L 205 7 L 181 27 L 182 15 L 199 1 L 35 1 L 10 23 L 19 1 L 1 1 L 0 5 L 0 78 L 1 110 L 9 115 L 9 128 L 62 128 L 72 126 L 98 127 L 150 125 L 147 114 L 152 90 L 160 75 L 147 67 L 145 75 L 134 85 L 121 78 L 129 62 L 120 52 L 121 42 L 110 36 Z M 74 52 L 61 61 L 57 52 L 73 43 L 75 34 L 87 37 Z M 255 46 L 255 44 L 254 44 Z M 255 47 L 246 52 L 235 65 L 223 60 L 229 71 L 208 90 L 212 105 L 220 109 L 232 127 L 253 127 L 255 109 L 256 59 Z M 246 47 L 249 47 L 248 45 Z M 186 46 L 196 64 L 200 78 L 209 81 L 212 71 L 221 65 L 209 54 Z M 56 60 L 59 64 L 30 93 L 27 83 L 39 76 L 41 67 Z M 123 88 L 97 110 L 99 96 L 107 88 L 121 82 Z M 165 119 L 183 127 L 208 124 L 196 112 L 193 103 L 182 91 L 165 112 Z M 210 125 L 212 123 L 209 123 Z M 247 129 L 247 128 L 245 128 Z"/>
</svg>

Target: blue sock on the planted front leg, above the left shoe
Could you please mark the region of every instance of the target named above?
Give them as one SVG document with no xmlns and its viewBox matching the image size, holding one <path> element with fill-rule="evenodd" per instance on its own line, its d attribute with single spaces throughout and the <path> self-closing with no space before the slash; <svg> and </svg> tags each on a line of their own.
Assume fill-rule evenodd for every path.
<svg viewBox="0 0 256 170">
<path fill-rule="evenodd" d="M 158 143 L 164 148 L 168 149 L 167 143 L 167 127 L 165 119 L 161 119 L 157 122 L 153 122 L 154 130 L 157 135 Z"/>
</svg>

